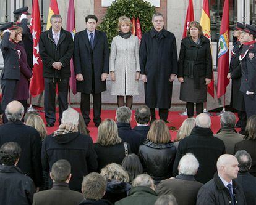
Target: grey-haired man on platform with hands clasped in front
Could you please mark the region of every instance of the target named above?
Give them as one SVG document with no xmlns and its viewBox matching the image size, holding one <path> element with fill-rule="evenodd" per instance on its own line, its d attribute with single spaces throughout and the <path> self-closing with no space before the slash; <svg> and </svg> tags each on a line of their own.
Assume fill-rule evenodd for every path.
<svg viewBox="0 0 256 205">
<path fill-rule="evenodd" d="M 51 28 L 41 33 L 39 41 L 40 57 L 43 61 L 45 78 L 45 118 L 46 126 L 53 127 L 56 121 L 55 96 L 58 85 L 59 124 L 62 112 L 67 109 L 67 92 L 69 88 L 70 60 L 74 44 L 72 34 L 62 27 L 60 15 L 51 16 Z"/>
</svg>

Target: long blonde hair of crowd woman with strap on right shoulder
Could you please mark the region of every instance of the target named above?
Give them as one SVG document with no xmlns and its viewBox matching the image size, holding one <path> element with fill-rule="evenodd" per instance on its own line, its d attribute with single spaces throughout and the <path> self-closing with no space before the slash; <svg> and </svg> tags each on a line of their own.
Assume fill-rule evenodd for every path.
<svg viewBox="0 0 256 205">
<path fill-rule="evenodd" d="M 102 146 L 116 145 L 122 140 L 118 137 L 118 129 L 116 122 L 113 119 L 105 119 L 98 127 L 97 142 Z"/>
</svg>

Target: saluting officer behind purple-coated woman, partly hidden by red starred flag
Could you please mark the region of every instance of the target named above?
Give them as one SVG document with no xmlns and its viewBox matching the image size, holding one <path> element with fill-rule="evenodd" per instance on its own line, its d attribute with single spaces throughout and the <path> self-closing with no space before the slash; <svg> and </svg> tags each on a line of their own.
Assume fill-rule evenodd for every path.
<svg viewBox="0 0 256 205">
<path fill-rule="evenodd" d="M 33 37 L 32 34 L 30 33 L 30 28 L 28 28 L 27 23 L 28 23 L 28 17 L 27 15 L 30 15 L 28 13 L 28 7 L 22 7 L 19 9 L 14 10 L 14 18 L 16 21 L 16 25 L 22 27 L 22 41 L 20 44 L 24 47 L 26 50 L 27 54 L 27 62 L 28 66 L 30 68 L 33 68 Z"/>
</svg>

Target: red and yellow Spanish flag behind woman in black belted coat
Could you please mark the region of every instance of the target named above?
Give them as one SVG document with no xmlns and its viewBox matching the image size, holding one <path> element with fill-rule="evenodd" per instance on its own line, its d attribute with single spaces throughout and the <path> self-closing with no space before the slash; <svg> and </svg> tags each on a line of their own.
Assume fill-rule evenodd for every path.
<svg viewBox="0 0 256 205">
<path fill-rule="evenodd" d="M 211 22 L 208 0 L 203 0 L 202 15 L 200 20 L 202 26 L 203 35 L 211 41 Z M 207 87 L 208 93 L 214 98 L 214 76 L 210 84 Z"/>
</svg>

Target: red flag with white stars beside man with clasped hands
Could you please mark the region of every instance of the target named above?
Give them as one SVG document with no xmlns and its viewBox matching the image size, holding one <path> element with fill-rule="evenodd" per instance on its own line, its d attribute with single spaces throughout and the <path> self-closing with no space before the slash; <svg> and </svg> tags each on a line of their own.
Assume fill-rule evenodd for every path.
<svg viewBox="0 0 256 205">
<path fill-rule="evenodd" d="M 30 93 L 34 97 L 44 90 L 43 63 L 39 55 L 38 41 L 41 34 L 41 22 L 38 0 L 33 1 L 30 31 L 33 36 L 33 78 L 30 82 Z"/>
</svg>

